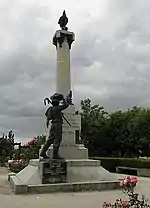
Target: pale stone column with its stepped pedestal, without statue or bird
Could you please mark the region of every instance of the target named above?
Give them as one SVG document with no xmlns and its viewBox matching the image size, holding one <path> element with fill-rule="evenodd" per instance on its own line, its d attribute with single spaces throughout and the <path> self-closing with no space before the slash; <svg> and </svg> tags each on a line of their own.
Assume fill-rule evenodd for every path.
<svg viewBox="0 0 150 208">
<path fill-rule="evenodd" d="M 56 92 L 65 97 L 71 90 L 70 49 L 74 41 L 74 33 L 67 30 L 57 30 L 53 37 L 53 44 L 57 50 Z M 60 155 L 65 159 L 87 159 L 88 150 L 84 145 L 76 144 L 76 130 L 81 130 L 81 116 L 75 114 L 75 106 L 70 105 L 64 110 L 64 116 L 71 126 L 63 120 L 62 143 Z M 52 157 L 53 146 L 47 152 Z"/>
</svg>

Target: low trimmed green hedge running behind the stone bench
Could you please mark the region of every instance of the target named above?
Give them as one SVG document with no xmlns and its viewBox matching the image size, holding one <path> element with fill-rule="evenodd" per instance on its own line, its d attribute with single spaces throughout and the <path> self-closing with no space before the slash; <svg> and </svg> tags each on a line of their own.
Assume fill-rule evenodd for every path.
<svg viewBox="0 0 150 208">
<path fill-rule="evenodd" d="M 144 158 L 92 157 L 91 159 L 100 160 L 102 167 L 110 172 L 116 172 L 117 166 L 146 169 L 150 168 L 150 159 Z"/>
</svg>

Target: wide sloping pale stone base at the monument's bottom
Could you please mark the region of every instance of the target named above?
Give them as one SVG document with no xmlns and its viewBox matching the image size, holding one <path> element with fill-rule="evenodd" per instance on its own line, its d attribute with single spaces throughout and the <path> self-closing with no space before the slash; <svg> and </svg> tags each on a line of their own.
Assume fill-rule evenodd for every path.
<svg viewBox="0 0 150 208">
<path fill-rule="evenodd" d="M 72 191 L 102 191 L 118 188 L 119 180 L 116 175 L 105 170 L 100 165 L 99 160 L 65 160 L 65 163 L 62 162 L 61 165 L 52 161 L 52 165 L 55 168 L 59 166 L 60 174 L 57 177 L 56 171 L 54 171 L 55 168 L 49 171 L 50 161 L 52 160 L 43 160 L 42 162 L 39 159 L 33 159 L 30 160 L 29 165 L 22 171 L 16 175 L 11 174 L 9 180 L 14 193 L 41 194 Z M 62 171 L 62 169 L 65 170 L 66 164 L 67 174 L 66 171 Z M 44 179 L 43 173 L 45 173 L 44 176 L 46 176 L 46 179 Z M 55 176 L 52 176 L 52 173 Z"/>
</svg>

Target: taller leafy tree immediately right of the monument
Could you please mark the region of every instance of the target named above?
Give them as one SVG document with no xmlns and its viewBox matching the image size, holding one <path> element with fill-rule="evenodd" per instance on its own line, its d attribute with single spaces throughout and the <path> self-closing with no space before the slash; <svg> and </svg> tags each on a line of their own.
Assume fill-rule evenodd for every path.
<svg viewBox="0 0 150 208">
<path fill-rule="evenodd" d="M 110 152 L 110 146 L 107 143 L 111 142 L 107 137 L 108 129 L 108 113 L 102 106 L 91 105 L 91 100 L 81 101 L 81 138 L 85 146 L 89 149 L 90 155 L 104 154 Z"/>
</svg>

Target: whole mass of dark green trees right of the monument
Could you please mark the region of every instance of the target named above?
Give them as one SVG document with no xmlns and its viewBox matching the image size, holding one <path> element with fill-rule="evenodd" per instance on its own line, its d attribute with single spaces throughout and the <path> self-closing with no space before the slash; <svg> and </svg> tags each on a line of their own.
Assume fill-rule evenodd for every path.
<svg viewBox="0 0 150 208">
<path fill-rule="evenodd" d="M 150 109 L 108 113 L 86 99 L 81 101 L 81 118 L 81 138 L 91 156 L 149 156 Z"/>
</svg>

